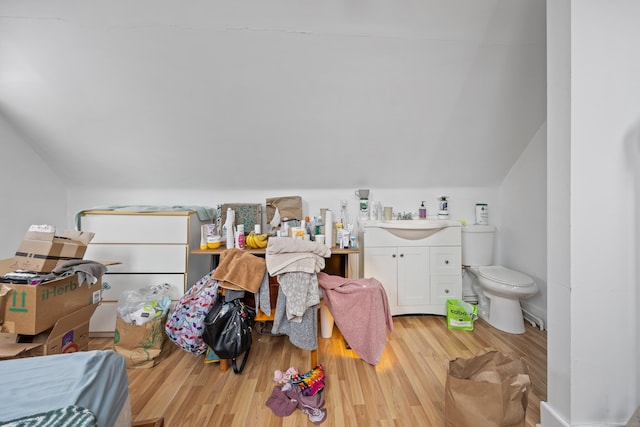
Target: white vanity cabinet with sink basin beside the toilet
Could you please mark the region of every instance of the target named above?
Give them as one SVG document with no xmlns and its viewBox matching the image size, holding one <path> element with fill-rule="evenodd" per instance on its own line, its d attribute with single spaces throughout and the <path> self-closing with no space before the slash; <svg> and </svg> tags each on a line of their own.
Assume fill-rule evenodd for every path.
<svg viewBox="0 0 640 427">
<path fill-rule="evenodd" d="M 365 277 L 382 283 L 392 315 L 445 315 L 447 299 L 462 297 L 460 225 L 447 221 L 415 232 L 385 225 L 364 226 Z"/>
</svg>

